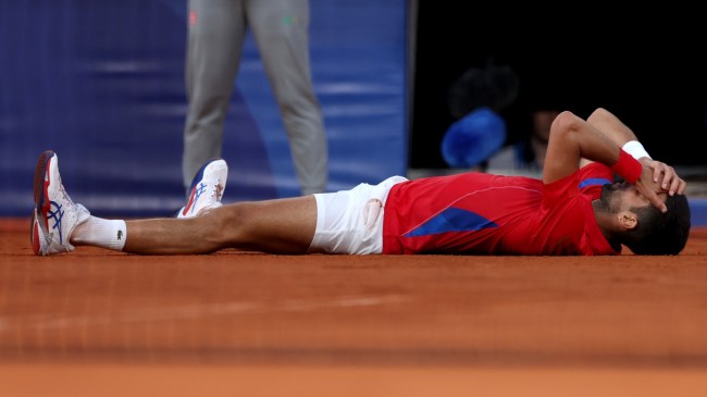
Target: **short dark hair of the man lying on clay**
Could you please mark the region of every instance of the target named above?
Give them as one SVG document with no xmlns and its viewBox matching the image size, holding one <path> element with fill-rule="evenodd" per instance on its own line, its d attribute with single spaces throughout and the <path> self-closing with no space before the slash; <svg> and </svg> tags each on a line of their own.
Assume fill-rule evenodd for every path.
<svg viewBox="0 0 707 397">
<path fill-rule="evenodd" d="M 655 206 L 631 209 L 638 216 L 636 227 L 621 241 L 636 255 L 678 255 L 690 236 L 690 204 L 684 195 L 668 196 L 668 212 Z"/>
</svg>

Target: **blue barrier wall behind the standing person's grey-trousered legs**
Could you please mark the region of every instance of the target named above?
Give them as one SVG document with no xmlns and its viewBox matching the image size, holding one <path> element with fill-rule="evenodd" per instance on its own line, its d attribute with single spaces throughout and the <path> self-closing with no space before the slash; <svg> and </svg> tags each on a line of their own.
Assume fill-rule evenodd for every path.
<svg viewBox="0 0 707 397">
<path fill-rule="evenodd" d="M 407 168 L 405 0 L 311 0 L 314 89 L 330 190 Z M 39 153 L 95 214 L 183 204 L 186 0 L 0 2 L 0 215 L 28 215 Z M 224 132 L 226 201 L 299 194 L 282 122 L 248 37 Z"/>
</svg>

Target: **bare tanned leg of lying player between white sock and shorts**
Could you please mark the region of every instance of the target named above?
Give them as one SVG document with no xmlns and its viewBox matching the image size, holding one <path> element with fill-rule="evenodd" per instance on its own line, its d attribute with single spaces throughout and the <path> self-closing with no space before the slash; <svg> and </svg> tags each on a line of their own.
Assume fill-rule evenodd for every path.
<svg viewBox="0 0 707 397">
<path fill-rule="evenodd" d="M 126 225 L 123 251 L 131 253 L 196 255 L 224 248 L 306 253 L 317 227 L 317 201 L 303 196 L 236 202 L 195 218 L 135 220 Z M 72 244 L 87 245 L 74 237 L 77 234 Z"/>
</svg>

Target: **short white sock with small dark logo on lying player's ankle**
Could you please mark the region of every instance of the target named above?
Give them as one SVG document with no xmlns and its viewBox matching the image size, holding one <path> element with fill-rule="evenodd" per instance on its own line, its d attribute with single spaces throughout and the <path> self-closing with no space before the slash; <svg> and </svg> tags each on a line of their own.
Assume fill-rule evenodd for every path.
<svg viewBox="0 0 707 397">
<path fill-rule="evenodd" d="M 127 227 L 123 220 L 107 220 L 90 216 L 76 226 L 71 236 L 74 245 L 96 246 L 122 251 L 127 238 Z"/>
</svg>

